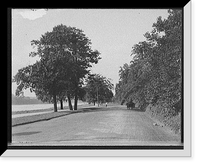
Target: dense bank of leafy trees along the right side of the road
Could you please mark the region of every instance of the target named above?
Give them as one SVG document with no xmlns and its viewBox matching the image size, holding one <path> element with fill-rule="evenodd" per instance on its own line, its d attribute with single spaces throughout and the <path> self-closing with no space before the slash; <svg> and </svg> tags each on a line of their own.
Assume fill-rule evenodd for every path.
<svg viewBox="0 0 200 166">
<path fill-rule="evenodd" d="M 168 10 L 168 18 L 157 18 L 146 40 L 132 47 L 133 59 L 119 71 L 115 100 L 130 99 L 145 109 L 160 105 L 177 114 L 182 103 L 182 10 Z"/>
</svg>

